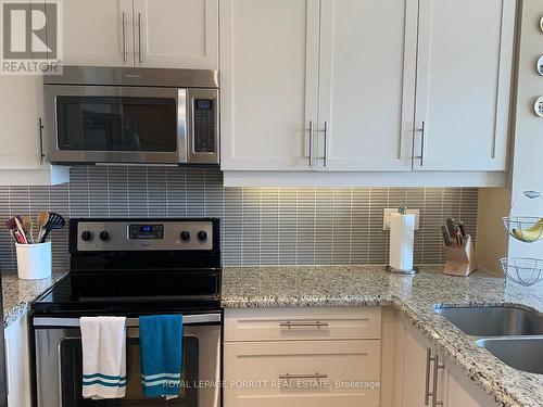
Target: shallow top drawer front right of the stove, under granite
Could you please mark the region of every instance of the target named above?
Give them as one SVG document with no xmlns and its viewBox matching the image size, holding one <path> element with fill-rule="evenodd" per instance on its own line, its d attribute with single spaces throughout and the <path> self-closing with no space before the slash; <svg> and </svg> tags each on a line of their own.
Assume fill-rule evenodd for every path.
<svg viewBox="0 0 543 407">
<path fill-rule="evenodd" d="M 225 341 L 380 339 L 381 308 L 233 308 Z"/>
</svg>

